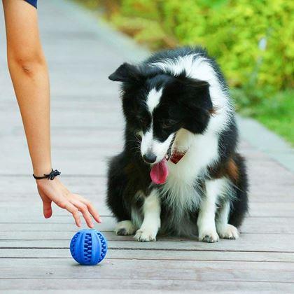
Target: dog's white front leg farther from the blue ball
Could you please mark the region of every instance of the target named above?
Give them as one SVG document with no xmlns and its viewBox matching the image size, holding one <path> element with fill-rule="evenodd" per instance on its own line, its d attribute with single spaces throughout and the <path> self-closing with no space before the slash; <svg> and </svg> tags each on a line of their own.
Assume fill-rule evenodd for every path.
<svg viewBox="0 0 294 294">
<path fill-rule="evenodd" d="M 197 219 L 200 241 L 217 242 L 216 232 L 216 200 L 220 193 L 221 183 L 218 180 L 206 181 L 206 195 L 200 204 Z"/>
</svg>

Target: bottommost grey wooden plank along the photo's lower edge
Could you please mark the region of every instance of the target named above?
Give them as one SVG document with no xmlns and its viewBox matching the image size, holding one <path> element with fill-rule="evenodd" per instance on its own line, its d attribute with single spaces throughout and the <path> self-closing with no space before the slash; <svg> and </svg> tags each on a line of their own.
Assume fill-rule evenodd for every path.
<svg viewBox="0 0 294 294">
<path fill-rule="evenodd" d="M 146 279 L 1 279 L 1 290 L 45 290 L 46 293 L 73 293 L 74 290 L 87 290 L 87 293 L 149 294 L 168 291 L 191 291 L 193 293 L 293 293 L 293 283 L 257 282 L 257 281 L 195 281 L 181 280 L 146 280 Z M 146 290 L 148 289 L 148 290 Z M 91 291 L 92 290 L 92 291 Z M 107 291 L 107 292 L 105 292 Z M 31 292 L 29 292 L 31 293 Z"/>
</svg>

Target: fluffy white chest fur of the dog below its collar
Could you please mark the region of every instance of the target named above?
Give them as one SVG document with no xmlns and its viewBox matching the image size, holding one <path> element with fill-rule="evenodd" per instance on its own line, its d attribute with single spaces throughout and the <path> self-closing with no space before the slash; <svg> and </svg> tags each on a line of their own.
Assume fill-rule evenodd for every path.
<svg viewBox="0 0 294 294">
<path fill-rule="evenodd" d="M 197 179 L 203 179 L 207 166 L 218 159 L 218 139 L 215 134 L 191 134 L 180 130 L 174 142 L 179 151 L 186 151 L 181 160 L 168 162 L 169 176 L 162 186 L 165 201 L 174 214 L 183 216 L 185 211 L 197 209 L 200 194 L 197 193 Z"/>
</svg>

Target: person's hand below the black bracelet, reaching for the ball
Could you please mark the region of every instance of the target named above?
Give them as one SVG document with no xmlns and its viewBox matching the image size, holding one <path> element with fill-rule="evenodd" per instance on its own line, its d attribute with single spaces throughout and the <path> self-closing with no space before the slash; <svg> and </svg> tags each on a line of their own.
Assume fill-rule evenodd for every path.
<svg viewBox="0 0 294 294">
<path fill-rule="evenodd" d="M 89 228 L 94 228 L 92 217 L 97 223 L 101 223 L 100 216 L 89 200 L 84 197 L 71 193 L 64 184 L 55 178 L 53 180 L 41 179 L 36 181 L 38 193 L 43 201 L 43 214 L 45 218 L 52 216 L 51 204 L 54 202 L 58 207 L 69 211 L 80 227 L 80 211 Z M 92 215 L 92 217 L 91 217 Z"/>
</svg>

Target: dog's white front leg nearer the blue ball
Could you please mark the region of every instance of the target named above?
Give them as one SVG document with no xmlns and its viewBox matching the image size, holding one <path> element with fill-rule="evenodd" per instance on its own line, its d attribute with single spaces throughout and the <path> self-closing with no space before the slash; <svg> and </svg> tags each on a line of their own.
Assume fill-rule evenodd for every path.
<svg viewBox="0 0 294 294">
<path fill-rule="evenodd" d="M 156 241 L 160 228 L 160 198 L 158 191 L 153 189 L 143 204 L 143 223 L 137 230 L 135 239 L 138 241 Z"/>
</svg>

